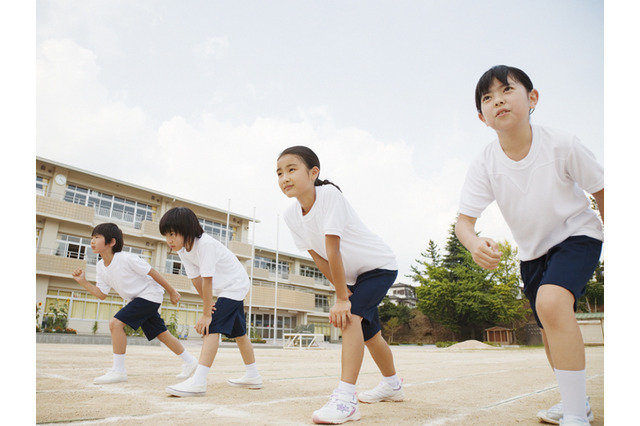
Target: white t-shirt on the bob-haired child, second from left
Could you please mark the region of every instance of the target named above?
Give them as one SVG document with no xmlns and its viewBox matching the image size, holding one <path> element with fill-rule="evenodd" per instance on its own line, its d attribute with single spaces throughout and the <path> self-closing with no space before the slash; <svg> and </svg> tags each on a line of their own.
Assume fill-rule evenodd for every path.
<svg viewBox="0 0 640 426">
<path fill-rule="evenodd" d="M 178 250 L 189 278 L 212 277 L 214 296 L 242 301 L 249 292 L 249 276 L 238 258 L 209 234 L 193 241 L 191 251 Z"/>
</svg>

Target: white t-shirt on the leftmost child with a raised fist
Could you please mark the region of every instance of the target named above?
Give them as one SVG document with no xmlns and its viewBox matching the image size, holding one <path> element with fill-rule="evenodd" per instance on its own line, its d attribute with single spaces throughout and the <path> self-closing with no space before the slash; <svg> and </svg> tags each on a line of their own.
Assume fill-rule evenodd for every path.
<svg viewBox="0 0 640 426">
<path fill-rule="evenodd" d="M 96 265 L 96 286 L 104 294 L 112 288 L 124 300 L 136 297 L 155 303 L 162 303 L 164 288 L 148 274 L 151 265 L 137 254 L 114 253 L 109 266 L 100 259 Z"/>
</svg>

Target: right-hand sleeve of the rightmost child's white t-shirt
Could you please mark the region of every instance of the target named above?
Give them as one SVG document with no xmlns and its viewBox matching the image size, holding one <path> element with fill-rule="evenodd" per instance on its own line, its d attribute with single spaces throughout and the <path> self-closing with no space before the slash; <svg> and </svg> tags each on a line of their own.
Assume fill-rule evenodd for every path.
<svg viewBox="0 0 640 426">
<path fill-rule="evenodd" d="M 604 167 L 577 137 L 572 140 L 565 170 L 570 179 L 591 194 L 604 188 Z"/>
</svg>

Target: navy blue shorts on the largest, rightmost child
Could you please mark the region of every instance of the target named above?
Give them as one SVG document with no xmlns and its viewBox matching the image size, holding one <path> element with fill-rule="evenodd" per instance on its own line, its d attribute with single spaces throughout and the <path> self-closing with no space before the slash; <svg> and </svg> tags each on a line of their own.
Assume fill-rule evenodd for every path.
<svg viewBox="0 0 640 426">
<path fill-rule="evenodd" d="M 598 266 L 602 241 L 579 235 L 557 244 L 544 256 L 520 262 L 524 294 L 531 303 L 533 316 L 542 328 L 536 311 L 536 296 L 543 284 L 555 284 L 573 293 L 575 312 L 587 283 Z"/>
</svg>

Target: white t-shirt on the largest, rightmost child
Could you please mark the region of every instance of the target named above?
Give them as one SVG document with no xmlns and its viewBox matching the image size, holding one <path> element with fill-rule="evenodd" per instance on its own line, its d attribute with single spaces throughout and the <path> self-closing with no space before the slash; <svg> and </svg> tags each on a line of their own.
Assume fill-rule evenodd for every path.
<svg viewBox="0 0 640 426">
<path fill-rule="evenodd" d="M 584 191 L 604 188 L 604 169 L 577 137 L 531 126 L 531 149 L 513 161 L 496 139 L 469 167 L 459 212 L 478 218 L 494 200 L 518 245 L 532 260 L 571 236 L 603 240 L 602 223 Z"/>
</svg>

